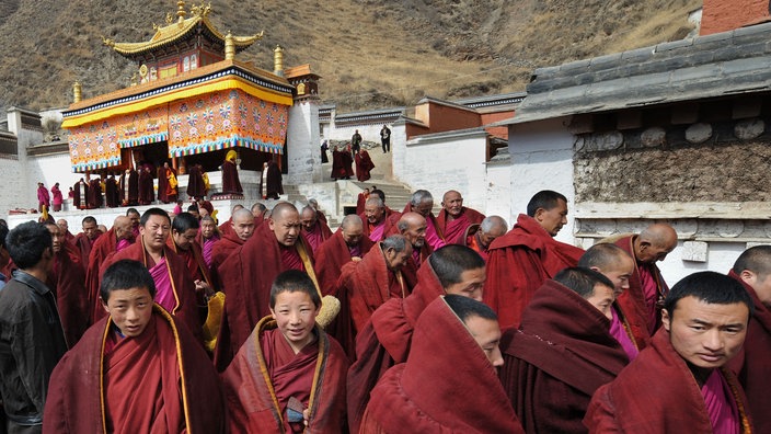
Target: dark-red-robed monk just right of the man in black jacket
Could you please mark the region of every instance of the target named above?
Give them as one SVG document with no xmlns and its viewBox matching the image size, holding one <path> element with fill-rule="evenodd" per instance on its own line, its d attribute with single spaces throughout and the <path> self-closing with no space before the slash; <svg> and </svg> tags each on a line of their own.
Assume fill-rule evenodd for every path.
<svg viewBox="0 0 771 434">
<path fill-rule="evenodd" d="M 91 311 L 85 292 L 85 272 L 78 251 L 65 239 L 61 229 L 53 221 L 46 222 L 54 249 L 54 267 L 46 284 L 56 294 L 56 308 L 65 330 L 67 345 L 74 345 L 89 326 Z"/>
</svg>

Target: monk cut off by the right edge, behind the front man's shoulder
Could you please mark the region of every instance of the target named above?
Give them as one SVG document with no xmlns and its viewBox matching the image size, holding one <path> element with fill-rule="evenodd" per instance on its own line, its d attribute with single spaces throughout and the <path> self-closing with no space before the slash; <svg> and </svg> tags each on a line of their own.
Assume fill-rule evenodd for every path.
<svg viewBox="0 0 771 434">
<path fill-rule="evenodd" d="M 758 433 L 771 432 L 771 245 L 745 250 L 728 275 L 741 283 L 755 304 L 743 351 L 729 363 L 747 391 Z"/>
</svg>

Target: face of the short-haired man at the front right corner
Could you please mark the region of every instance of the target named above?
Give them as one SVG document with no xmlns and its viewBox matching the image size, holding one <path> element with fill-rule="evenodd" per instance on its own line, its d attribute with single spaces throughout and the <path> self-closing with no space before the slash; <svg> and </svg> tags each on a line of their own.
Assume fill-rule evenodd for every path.
<svg viewBox="0 0 771 434">
<path fill-rule="evenodd" d="M 705 369 L 721 367 L 736 355 L 745 342 L 748 319 L 749 309 L 743 302 L 717 305 L 693 296 L 678 300 L 672 312 L 661 310 L 661 324 L 675 351 Z"/>
</svg>

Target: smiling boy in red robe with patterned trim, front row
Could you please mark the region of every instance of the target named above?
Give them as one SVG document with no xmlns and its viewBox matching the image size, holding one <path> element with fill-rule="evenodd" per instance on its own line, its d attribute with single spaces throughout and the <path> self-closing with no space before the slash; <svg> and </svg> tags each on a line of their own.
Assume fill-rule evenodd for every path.
<svg viewBox="0 0 771 434">
<path fill-rule="evenodd" d="M 263 318 L 223 374 L 233 433 L 341 433 L 348 361 L 317 326 L 321 296 L 297 270 L 276 277 Z"/>
</svg>

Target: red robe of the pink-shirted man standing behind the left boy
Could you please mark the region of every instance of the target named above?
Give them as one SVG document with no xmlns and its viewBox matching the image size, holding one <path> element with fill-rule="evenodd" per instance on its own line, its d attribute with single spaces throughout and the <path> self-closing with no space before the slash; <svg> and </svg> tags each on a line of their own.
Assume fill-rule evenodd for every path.
<svg viewBox="0 0 771 434">
<path fill-rule="evenodd" d="M 168 245 L 163 247 L 163 258 L 165 258 L 166 261 L 166 267 L 171 277 L 172 290 L 175 299 L 174 308 L 170 313 L 176 318 L 179 323 L 185 324 L 193 335 L 202 341 L 203 330 L 200 328 L 200 318 L 198 317 L 198 302 L 195 294 L 195 284 L 189 276 L 187 265 L 185 264 L 185 261 L 174 253 L 174 251 Z M 104 271 L 107 270 L 110 265 L 124 259 L 139 261 L 145 264 L 148 270 L 156 265 L 148 263 L 149 255 L 145 250 L 145 244 L 141 239 L 139 239 L 126 249 L 110 254 L 102 264 L 101 273 L 104 274 Z M 100 285 L 101 281 L 102 276 L 100 275 Z M 99 320 L 106 315 L 107 313 L 104 309 L 102 309 L 102 312 L 97 313 L 95 319 Z"/>
</svg>

